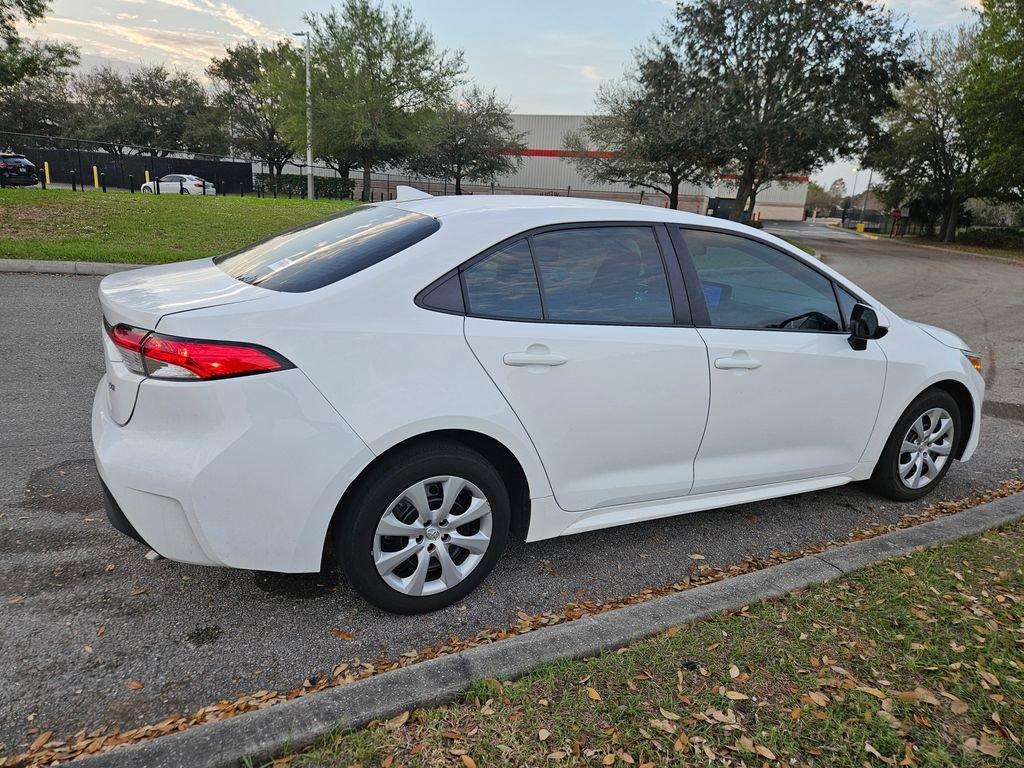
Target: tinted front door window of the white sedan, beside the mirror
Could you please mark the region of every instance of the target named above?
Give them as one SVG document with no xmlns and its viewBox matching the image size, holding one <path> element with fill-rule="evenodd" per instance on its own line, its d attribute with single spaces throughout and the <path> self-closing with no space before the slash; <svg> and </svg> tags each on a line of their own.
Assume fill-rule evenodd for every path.
<svg viewBox="0 0 1024 768">
<path fill-rule="evenodd" d="M 711 324 L 719 328 L 841 331 L 831 281 L 745 238 L 683 230 Z"/>
</svg>

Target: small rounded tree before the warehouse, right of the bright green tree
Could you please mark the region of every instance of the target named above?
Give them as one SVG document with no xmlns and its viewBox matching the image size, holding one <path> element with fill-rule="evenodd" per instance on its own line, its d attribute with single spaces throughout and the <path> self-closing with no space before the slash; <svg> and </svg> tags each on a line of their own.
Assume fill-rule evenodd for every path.
<svg viewBox="0 0 1024 768">
<path fill-rule="evenodd" d="M 515 130 L 512 111 L 494 92 L 470 88 L 437 113 L 428 150 L 409 162 L 413 173 L 455 183 L 494 181 L 503 173 L 515 173 L 526 151 L 524 133 Z"/>
</svg>

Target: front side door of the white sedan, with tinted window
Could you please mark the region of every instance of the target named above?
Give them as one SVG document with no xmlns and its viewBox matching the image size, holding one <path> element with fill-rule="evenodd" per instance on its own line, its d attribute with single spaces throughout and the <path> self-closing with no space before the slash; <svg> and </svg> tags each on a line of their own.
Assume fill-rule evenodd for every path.
<svg viewBox="0 0 1024 768">
<path fill-rule="evenodd" d="M 886 359 L 849 343 L 849 292 L 764 241 L 672 230 L 708 345 L 711 409 L 693 493 L 842 475 L 874 426 Z"/>
</svg>

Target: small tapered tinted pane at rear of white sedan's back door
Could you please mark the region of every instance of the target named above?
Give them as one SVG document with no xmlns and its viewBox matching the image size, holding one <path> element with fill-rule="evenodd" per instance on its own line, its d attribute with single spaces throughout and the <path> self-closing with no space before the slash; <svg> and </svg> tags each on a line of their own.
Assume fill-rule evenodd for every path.
<svg viewBox="0 0 1024 768">
<path fill-rule="evenodd" d="M 477 261 L 463 273 L 469 311 L 487 317 L 541 319 L 541 293 L 525 240 Z"/>
</svg>

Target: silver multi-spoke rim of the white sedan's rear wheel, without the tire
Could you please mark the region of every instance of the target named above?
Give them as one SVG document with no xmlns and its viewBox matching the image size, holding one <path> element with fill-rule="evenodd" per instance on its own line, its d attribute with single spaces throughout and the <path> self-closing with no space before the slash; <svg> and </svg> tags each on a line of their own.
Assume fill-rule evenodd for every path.
<svg viewBox="0 0 1024 768">
<path fill-rule="evenodd" d="M 490 546 L 490 503 L 469 480 L 437 475 L 406 488 L 377 523 L 374 565 L 391 589 L 422 597 L 463 582 Z"/>
</svg>

